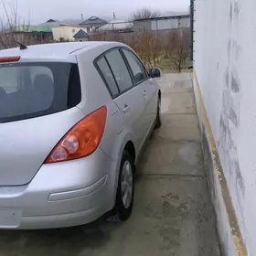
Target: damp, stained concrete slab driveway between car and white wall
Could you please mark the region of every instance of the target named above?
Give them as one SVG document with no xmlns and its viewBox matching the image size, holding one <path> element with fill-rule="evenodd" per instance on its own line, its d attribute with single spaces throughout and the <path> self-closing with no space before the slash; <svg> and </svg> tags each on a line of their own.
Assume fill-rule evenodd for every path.
<svg viewBox="0 0 256 256">
<path fill-rule="evenodd" d="M 159 80 L 163 126 L 137 169 L 133 216 L 122 225 L 0 231 L 1 256 L 218 256 L 190 75 Z"/>
</svg>

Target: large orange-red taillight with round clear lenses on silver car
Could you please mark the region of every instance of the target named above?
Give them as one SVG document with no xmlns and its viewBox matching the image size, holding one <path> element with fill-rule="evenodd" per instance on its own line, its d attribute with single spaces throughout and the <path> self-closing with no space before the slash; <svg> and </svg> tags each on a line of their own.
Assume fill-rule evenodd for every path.
<svg viewBox="0 0 256 256">
<path fill-rule="evenodd" d="M 45 164 L 69 161 L 91 155 L 101 143 L 107 107 L 92 112 L 67 133 L 48 155 Z"/>
</svg>

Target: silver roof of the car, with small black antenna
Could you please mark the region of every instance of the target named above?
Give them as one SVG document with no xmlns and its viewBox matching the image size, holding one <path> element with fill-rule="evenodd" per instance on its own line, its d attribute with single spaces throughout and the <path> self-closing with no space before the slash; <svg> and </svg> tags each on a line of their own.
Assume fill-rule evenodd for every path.
<svg viewBox="0 0 256 256">
<path fill-rule="evenodd" d="M 68 42 L 27 46 L 27 49 L 8 48 L 0 50 L 0 57 L 20 56 L 21 59 L 74 59 L 80 52 L 92 48 L 122 46 L 118 42 Z"/>
</svg>

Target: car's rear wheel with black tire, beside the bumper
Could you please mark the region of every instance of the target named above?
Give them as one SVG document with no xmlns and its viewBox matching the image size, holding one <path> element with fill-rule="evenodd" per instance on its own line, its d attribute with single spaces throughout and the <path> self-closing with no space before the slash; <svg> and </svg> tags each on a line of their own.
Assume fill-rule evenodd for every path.
<svg viewBox="0 0 256 256">
<path fill-rule="evenodd" d="M 110 217 L 107 219 L 112 223 L 121 223 L 129 219 L 132 214 L 134 197 L 134 173 L 135 167 L 133 164 L 133 158 L 126 150 L 124 150 L 120 165 L 115 206 L 110 213 Z"/>
</svg>

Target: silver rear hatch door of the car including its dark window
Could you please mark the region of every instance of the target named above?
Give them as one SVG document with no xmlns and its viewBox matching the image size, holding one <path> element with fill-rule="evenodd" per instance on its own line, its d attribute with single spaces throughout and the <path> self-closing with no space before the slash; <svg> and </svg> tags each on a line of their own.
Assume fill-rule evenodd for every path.
<svg viewBox="0 0 256 256">
<path fill-rule="evenodd" d="M 77 64 L 0 63 L 0 186 L 25 185 L 84 117 Z M 45 181 L 47 182 L 47 180 Z"/>
</svg>

